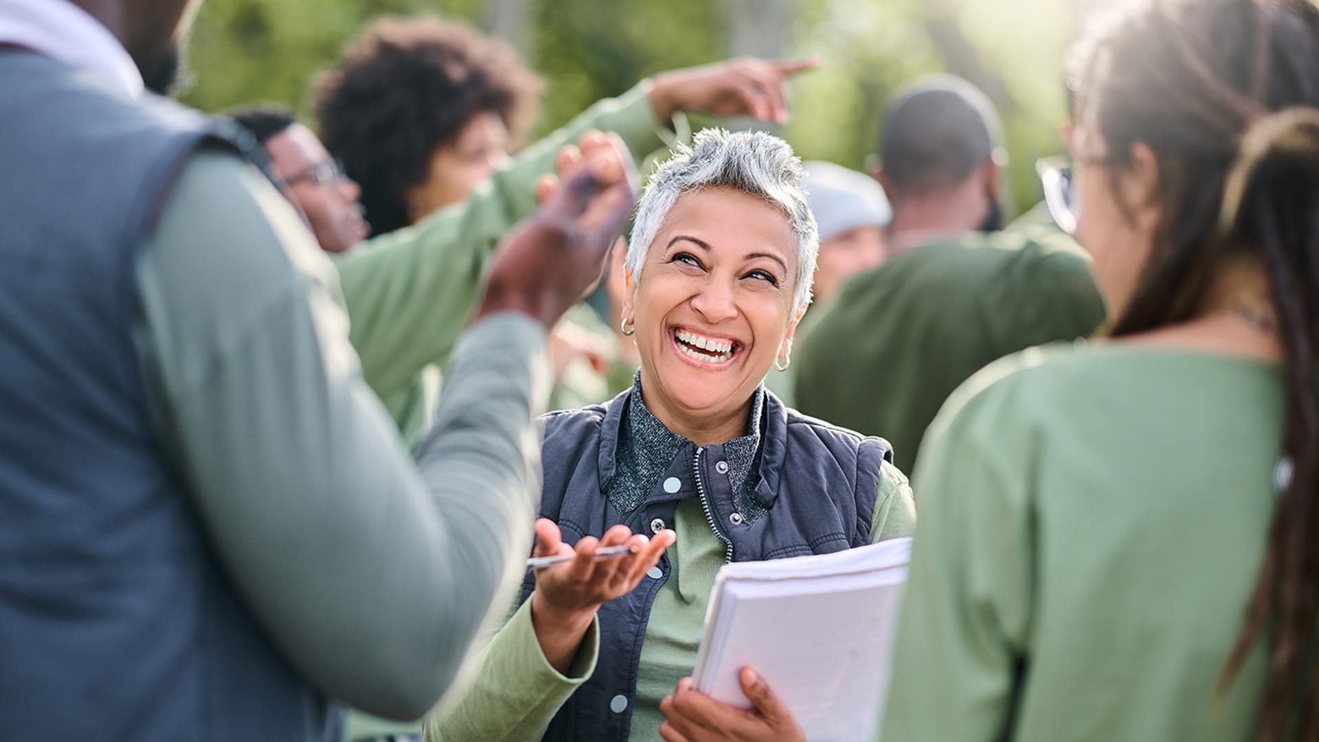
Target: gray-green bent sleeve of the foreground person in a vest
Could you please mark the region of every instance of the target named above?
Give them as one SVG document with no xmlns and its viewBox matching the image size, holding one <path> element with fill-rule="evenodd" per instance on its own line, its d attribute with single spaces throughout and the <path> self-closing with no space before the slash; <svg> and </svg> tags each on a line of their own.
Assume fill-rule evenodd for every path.
<svg viewBox="0 0 1319 742">
<path fill-rule="evenodd" d="M 414 465 L 335 281 L 274 187 L 206 151 L 140 253 L 133 338 L 157 438 L 272 647 L 331 697 L 421 716 L 520 573 L 545 331 L 509 313 L 466 334 Z"/>
</svg>

